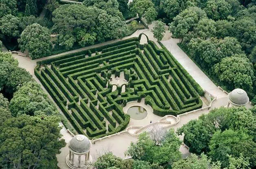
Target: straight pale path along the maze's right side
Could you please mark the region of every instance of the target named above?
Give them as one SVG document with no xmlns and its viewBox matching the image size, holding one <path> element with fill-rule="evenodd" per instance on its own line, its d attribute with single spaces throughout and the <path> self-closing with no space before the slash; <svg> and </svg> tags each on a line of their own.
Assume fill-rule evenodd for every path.
<svg viewBox="0 0 256 169">
<path fill-rule="evenodd" d="M 161 41 L 163 45 L 172 53 L 172 56 L 188 71 L 195 81 L 210 94 L 217 98 L 227 97 L 225 92 L 222 92 L 212 81 L 201 71 L 201 69 L 188 57 L 188 55 L 177 45 L 180 39 L 169 39 Z"/>
</svg>

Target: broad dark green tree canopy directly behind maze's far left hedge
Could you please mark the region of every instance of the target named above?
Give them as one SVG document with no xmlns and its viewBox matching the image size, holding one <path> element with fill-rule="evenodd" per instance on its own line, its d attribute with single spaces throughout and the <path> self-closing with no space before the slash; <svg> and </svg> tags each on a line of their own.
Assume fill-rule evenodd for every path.
<svg viewBox="0 0 256 169">
<path fill-rule="evenodd" d="M 121 38 L 128 32 L 120 17 L 112 16 L 97 7 L 79 4 L 66 4 L 57 8 L 53 11 L 53 22 L 53 31 L 60 34 L 58 41 L 67 48 L 75 42 L 84 46 L 94 41 Z"/>
</svg>

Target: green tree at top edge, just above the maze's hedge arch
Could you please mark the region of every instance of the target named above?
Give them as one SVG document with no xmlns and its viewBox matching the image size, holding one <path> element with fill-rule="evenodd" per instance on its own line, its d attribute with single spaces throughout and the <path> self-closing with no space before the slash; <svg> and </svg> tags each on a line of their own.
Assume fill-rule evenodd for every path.
<svg viewBox="0 0 256 169">
<path fill-rule="evenodd" d="M 154 4 L 151 0 L 133 0 L 130 3 L 130 10 L 138 14 L 139 19 L 144 16 L 148 9 L 154 8 Z"/>
</svg>

